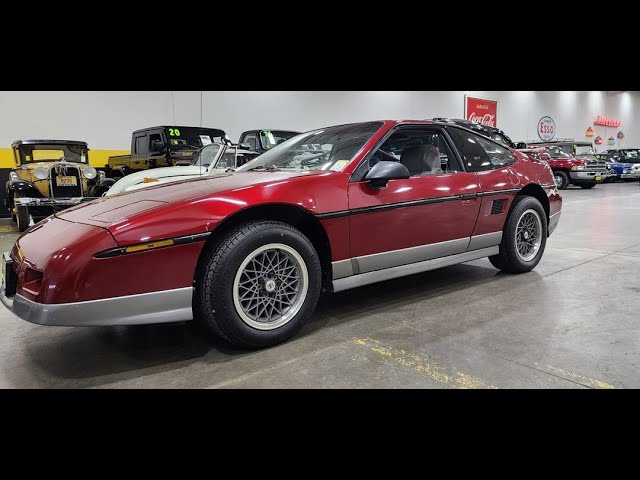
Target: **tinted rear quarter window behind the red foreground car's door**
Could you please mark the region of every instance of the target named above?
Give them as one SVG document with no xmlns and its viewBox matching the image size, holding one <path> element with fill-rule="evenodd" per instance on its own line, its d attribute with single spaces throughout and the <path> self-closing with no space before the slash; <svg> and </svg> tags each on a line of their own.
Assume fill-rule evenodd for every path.
<svg viewBox="0 0 640 480">
<path fill-rule="evenodd" d="M 469 172 L 493 170 L 516 161 L 506 148 L 471 132 L 452 128 L 449 133 Z"/>
</svg>

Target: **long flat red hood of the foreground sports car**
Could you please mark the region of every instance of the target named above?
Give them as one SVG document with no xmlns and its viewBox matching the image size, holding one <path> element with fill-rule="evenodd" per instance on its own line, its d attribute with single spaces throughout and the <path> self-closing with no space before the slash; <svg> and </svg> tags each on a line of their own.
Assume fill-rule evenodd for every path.
<svg viewBox="0 0 640 480">
<path fill-rule="evenodd" d="M 155 170 L 149 174 L 155 175 Z M 188 203 L 208 196 L 219 196 L 221 193 L 225 193 L 225 196 L 232 196 L 234 192 L 248 188 L 260 188 L 292 181 L 299 177 L 321 174 L 335 174 L 335 172 L 317 170 L 309 172 L 230 172 L 206 177 L 199 176 L 181 182 L 155 184 L 140 190 L 105 196 L 63 210 L 55 215 L 70 222 L 94 225 L 114 231 L 118 230 L 119 226 L 124 227 L 124 224 L 130 224 L 134 217 L 147 215 L 154 210 L 170 205 Z"/>
</svg>

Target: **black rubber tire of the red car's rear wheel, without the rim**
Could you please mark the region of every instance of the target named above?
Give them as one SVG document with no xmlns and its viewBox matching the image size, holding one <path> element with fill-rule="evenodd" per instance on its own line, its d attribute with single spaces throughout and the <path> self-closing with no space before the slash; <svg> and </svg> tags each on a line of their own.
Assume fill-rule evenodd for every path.
<svg viewBox="0 0 640 480">
<path fill-rule="evenodd" d="M 523 259 L 516 247 L 516 230 L 518 222 L 525 213 L 535 211 L 540 220 L 541 232 L 539 233 L 539 247 L 535 256 L 531 259 Z M 529 196 L 516 197 L 509 217 L 504 226 L 500 253 L 489 257 L 491 264 L 505 273 L 524 273 L 533 270 L 544 253 L 547 245 L 547 215 L 537 198 Z"/>
</svg>

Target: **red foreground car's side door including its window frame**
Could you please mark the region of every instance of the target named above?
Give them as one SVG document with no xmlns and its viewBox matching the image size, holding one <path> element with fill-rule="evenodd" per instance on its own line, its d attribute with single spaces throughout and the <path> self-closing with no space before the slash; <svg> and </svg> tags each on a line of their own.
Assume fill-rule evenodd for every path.
<svg viewBox="0 0 640 480">
<path fill-rule="evenodd" d="M 364 180 L 381 160 L 415 167 L 415 152 L 436 150 L 441 169 L 409 168 L 408 179 L 375 188 Z M 437 160 L 435 160 L 437 161 Z M 349 184 L 349 234 L 355 274 L 463 253 L 478 216 L 475 173 L 465 172 L 444 129 L 396 127 L 365 157 Z"/>
</svg>

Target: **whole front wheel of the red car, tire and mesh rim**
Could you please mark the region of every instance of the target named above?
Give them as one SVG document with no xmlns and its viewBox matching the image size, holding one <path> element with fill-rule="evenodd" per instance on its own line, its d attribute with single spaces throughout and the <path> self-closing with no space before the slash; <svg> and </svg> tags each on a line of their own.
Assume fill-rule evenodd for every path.
<svg viewBox="0 0 640 480">
<path fill-rule="evenodd" d="M 320 259 L 291 225 L 244 224 L 208 247 L 196 273 L 194 317 L 237 347 L 267 347 L 293 336 L 313 313 Z"/>
</svg>

